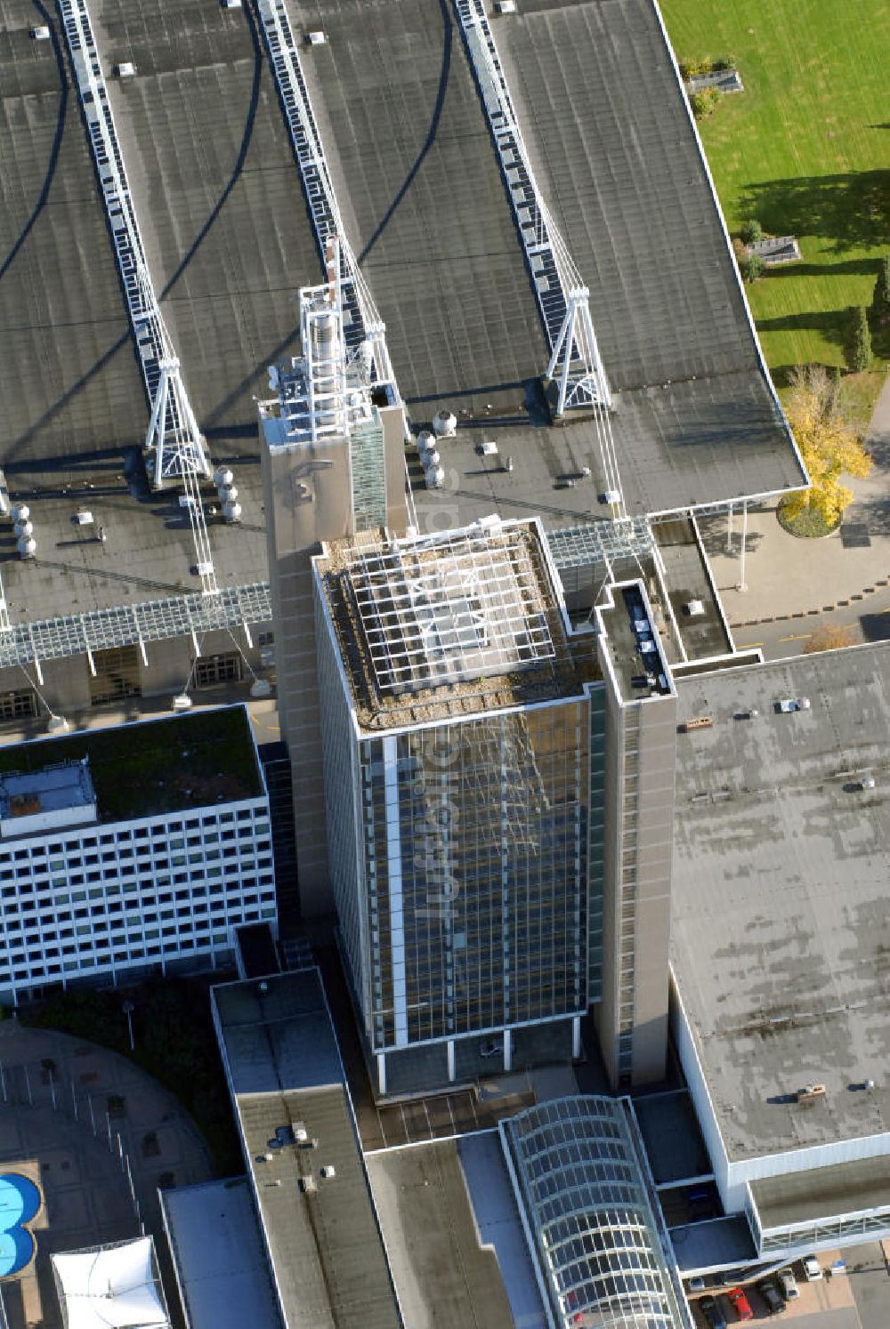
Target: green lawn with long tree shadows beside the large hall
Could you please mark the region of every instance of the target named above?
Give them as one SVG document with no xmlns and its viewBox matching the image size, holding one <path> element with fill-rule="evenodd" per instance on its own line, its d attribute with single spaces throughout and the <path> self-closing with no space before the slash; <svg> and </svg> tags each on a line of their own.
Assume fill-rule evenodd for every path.
<svg viewBox="0 0 890 1329">
<path fill-rule="evenodd" d="M 887 0 L 661 0 L 678 60 L 734 57 L 745 92 L 700 125 L 730 231 L 756 217 L 804 262 L 748 287 L 778 387 L 842 364 L 842 315 L 890 249 Z M 875 347 L 886 360 L 890 347 Z M 878 363 L 881 368 L 881 363 Z M 879 375 L 863 387 L 877 392 Z"/>
</svg>

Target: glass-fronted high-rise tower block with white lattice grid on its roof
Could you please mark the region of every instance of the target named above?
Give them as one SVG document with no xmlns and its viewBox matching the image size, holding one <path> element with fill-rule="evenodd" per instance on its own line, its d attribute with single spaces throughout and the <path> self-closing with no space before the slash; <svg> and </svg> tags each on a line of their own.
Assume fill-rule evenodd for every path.
<svg viewBox="0 0 890 1329">
<path fill-rule="evenodd" d="M 314 566 L 330 874 L 380 1083 L 418 1043 L 454 1075 L 456 1039 L 507 1031 L 508 1061 L 510 1030 L 599 997 L 599 671 L 536 522 Z"/>
</svg>

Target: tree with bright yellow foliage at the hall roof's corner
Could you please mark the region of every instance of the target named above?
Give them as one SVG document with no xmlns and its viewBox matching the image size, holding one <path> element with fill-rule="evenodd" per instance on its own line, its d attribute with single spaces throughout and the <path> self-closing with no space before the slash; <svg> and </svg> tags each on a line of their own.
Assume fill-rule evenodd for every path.
<svg viewBox="0 0 890 1329">
<path fill-rule="evenodd" d="M 839 381 L 823 365 L 792 369 L 785 413 L 813 485 L 782 500 L 782 525 L 831 530 L 853 501 L 841 476 L 865 480 L 871 457 L 843 411 Z"/>
</svg>

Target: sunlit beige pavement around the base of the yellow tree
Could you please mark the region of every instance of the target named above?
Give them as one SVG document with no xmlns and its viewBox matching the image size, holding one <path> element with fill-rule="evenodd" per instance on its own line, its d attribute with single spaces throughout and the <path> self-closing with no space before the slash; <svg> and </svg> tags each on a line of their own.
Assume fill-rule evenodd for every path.
<svg viewBox="0 0 890 1329">
<path fill-rule="evenodd" d="M 866 435 L 874 465 L 867 480 L 850 482 L 855 498 L 843 522 L 825 540 L 796 540 L 782 530 L 774 506 L 749 513 L 745 581 L 740 591 L 740 525 L 728 541 L 725 517 L 702 524 L 702 538 L 726 617 L 738 645 L 766 637 L 802 641 L 821 622 L 853 629 L 857 641 L 890 635 L 890 377 Z M 728 549 L 729 545 L 729 549 Z M 789 650 L 772 654 L 789 654 Z"/>
</svg>

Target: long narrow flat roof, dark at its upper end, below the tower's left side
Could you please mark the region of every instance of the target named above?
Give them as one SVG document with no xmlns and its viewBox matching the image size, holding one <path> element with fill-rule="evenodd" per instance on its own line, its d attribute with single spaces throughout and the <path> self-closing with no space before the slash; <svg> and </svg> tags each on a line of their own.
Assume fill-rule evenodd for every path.
<svg viewBox="0 0 890 1329">
<path fill-rule="evenodd" d="M 402 1329 L 318 970 L 213 1001 L 286 1324 Z"/>
</svg>

